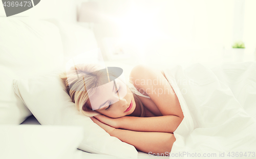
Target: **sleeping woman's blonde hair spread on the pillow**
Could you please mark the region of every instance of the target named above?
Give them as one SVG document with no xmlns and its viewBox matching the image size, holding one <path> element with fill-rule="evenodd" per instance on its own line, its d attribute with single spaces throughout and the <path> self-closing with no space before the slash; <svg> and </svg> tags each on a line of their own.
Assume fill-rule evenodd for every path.
<svg viewBox="0 0 256 159">
<path fill-rule="evenodd" d="M 99 115 L 97 111 L 90 109 L 91 102 L 89 95 L 92 95 L 97 86 L 101 85 L 99 79 L 103 76 L 107 76 L 105 72 L 98 71 L 101 69 L 102 67 L 97 64 L 77 64 L 76 66 L 71 67 L 70 70 L 59 74 L 59 77 L 65 82 L 66 91 L 71 97 L 72 102 L 75 103 L 76 109 L 79 110 L 82 115 L 88 117 Z M 109 75 L 115 76 L 111 72 L 109 72 Z M 127 83 L 125 84 L 127 85 Z M 130 88 L 129 85 L 127 86 Z M 134 94 L 134 92 L 132 93 L 135 101 L 140 105 L 140 117 L 144 117 L 143 104 L 137 95 Z"/>
</svg>

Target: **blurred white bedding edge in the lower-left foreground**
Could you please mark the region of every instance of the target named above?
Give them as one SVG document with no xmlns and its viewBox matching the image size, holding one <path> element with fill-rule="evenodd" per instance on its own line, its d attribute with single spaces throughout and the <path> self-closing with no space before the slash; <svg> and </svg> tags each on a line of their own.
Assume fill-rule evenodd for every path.
<svg viewBox="0 0 256 159">
<path fill-rule="evenodd" d="M 78 126 L 0 125 L 0 158 L 80 159 Z"/>
</svg>

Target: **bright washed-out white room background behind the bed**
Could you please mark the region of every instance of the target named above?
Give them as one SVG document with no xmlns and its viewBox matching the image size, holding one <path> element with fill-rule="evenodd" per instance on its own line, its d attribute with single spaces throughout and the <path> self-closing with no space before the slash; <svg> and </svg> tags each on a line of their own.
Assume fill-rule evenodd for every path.
<svg viewBox="0 0 256 159">
<path fill-rule="evenodd" d="M 82 11 L 82 3 L 88 2 L 98 7 L 78 21 L 87 13 Z M 253 0 L 45 0 L 17 16 L 55 18 L 93 29 L 105 61 L 222 63 L 235 61 L 231 47 L 236 41 L 245 43 L 243 61 L 256 59 L 255 5 Z M 3 8 L 0 15 L 5 15 Z M 90 16 L 101 20 L 82 21 L 90 21 Z"/>
</svg>

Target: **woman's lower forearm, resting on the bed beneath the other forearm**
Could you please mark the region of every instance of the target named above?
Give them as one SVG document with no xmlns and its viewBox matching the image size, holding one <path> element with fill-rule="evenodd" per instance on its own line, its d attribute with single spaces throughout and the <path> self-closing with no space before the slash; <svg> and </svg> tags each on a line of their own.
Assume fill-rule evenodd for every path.
<svg viewBox="0 0 256 159">
<path fill-rule="evenodd" d="M 137 150 L 145 153 L 170 152 L 176 140 L 173 133 L 166 132 L 138 132 L 115 129 L 110 135 L 135 146 Z"/>
</svg>

